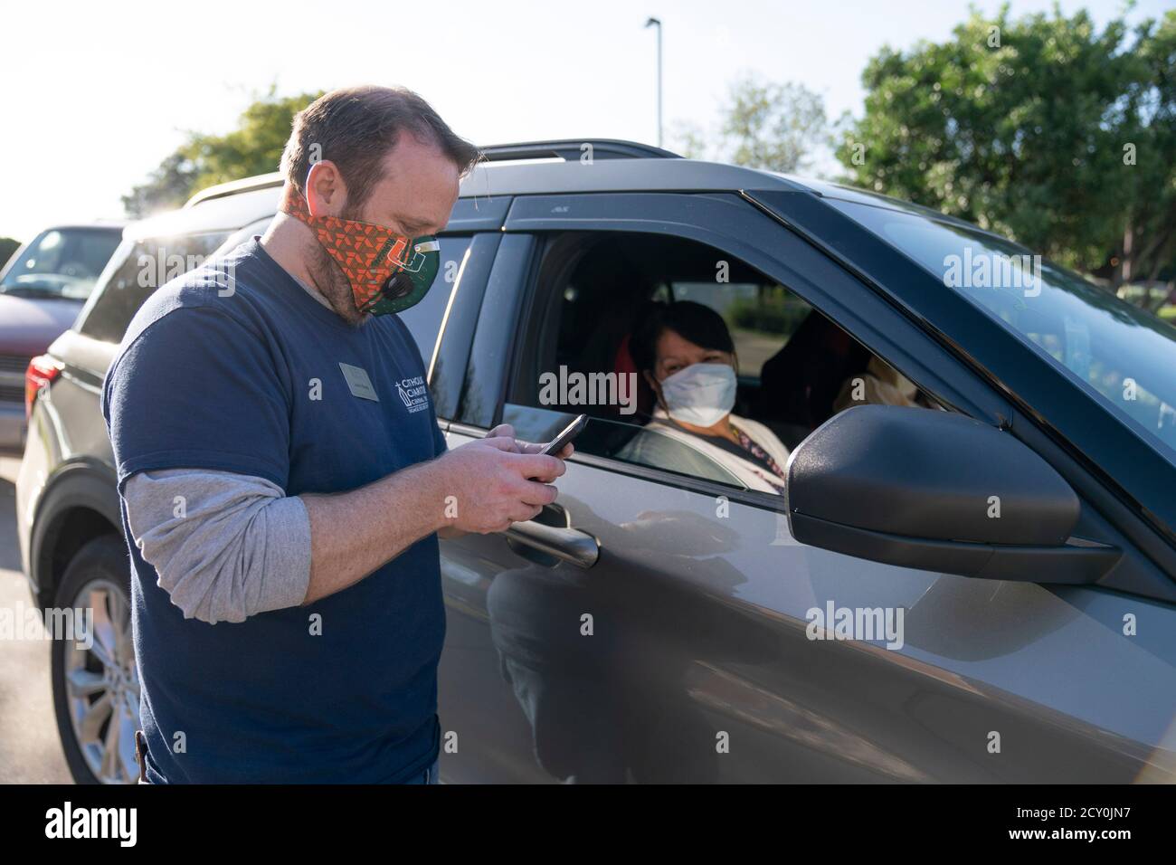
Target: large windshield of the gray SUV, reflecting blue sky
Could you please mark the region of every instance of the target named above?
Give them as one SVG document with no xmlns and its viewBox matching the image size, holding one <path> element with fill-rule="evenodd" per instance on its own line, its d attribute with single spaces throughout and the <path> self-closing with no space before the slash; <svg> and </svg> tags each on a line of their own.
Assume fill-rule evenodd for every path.
<svg viewBox="0 0 1176 865">
<path fill-rule="evenodd" d="M 1176 464 L 1176 328 L 978 228 L 830 200 L 1076 379 Z"/>
</svg>

